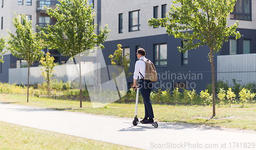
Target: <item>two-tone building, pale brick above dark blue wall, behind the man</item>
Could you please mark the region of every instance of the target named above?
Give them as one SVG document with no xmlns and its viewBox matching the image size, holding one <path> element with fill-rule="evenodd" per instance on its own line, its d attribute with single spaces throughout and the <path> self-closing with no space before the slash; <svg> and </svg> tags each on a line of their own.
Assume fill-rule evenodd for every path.
<svg viewBox="0 0 256 150">
<path fill-rule="evenodd" d="M 142 47 L 146 50 L 146 58 L 154 62 L 159 73 L 155 88 L 195 88 L 200 92 L 211 83 L 211 65 L 207 58 L 209 47 L 200 46 L 183 54 L 177 49 L 178 46 L 182 46 L 182 39 L 168 35 L 164 27 L 148 27 L 148 19 L 164 17 L 171 5 L 172 1 L 168 0 L 101 1 L 100 22 L 109 24 L 108 28 L 111 30 L 109 38 L 104 43 L 105 60 L 110 64 L 108 56 L 114 53 L 117 44 L 122 44 L 124 54 L 130 54 L 130 72 L 133 72 L 137 61 L 136 50 Z M 242 37 L 238 40 L 230 37 L 223 44 L 221 51 L 214 54 L 216 80 L 217 56 L 256 53 L 256 49 L 253 49 L 256 46 L 256 26 L 253 23 L 256 11 L 252 8 L 256 8 L 256 1 L 238 0 L 234 11 L 227 19 L 228 27 L 236 20 L 240 21 L 237 30 Z M 127 81 L 131 86 L 133 77 L 129 77 Z"/>
</svg>

